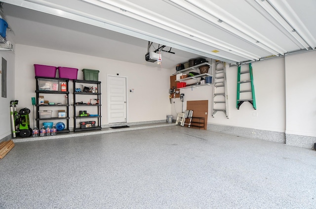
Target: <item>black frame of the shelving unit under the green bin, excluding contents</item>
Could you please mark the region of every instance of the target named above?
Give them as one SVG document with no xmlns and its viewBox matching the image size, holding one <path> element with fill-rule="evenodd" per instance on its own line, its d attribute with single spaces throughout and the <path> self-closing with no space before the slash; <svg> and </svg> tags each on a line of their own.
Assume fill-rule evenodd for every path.
<svg viewBox="0 0 316 209">
<path fill-rule="evenodd" d="M 101 130 L 101 81 L 86 81 L 86 80 L 74 80 L 74 132 L 79 132 L 79 131 L 91 131 L 91 130 Z M 91 93 L 91 92 L 77 92 L 76 91 L 76 84 L 92 84 L 97 86 L 97 93 Z M 76 95 L 90 95 L 96 97 L 97 100 L 99 101 L 99 104 L 76 104 L 78 103 Z M 97 115 L 98 116 L 78 116 L 79 112 L 77 108 L 81 107 L 96 107 L 97 108 Z M 77 115 L 76 115 L 77 114 Z M 78 119 L 96 119 L 96 124 L 95 127 L 91 128 L 80 128 L 77 127 L 77 120 Z M 88 120 L 87 120 L 88 121 Z M 84 121 L 83 121 L 84 122 Z"/>
</svg>

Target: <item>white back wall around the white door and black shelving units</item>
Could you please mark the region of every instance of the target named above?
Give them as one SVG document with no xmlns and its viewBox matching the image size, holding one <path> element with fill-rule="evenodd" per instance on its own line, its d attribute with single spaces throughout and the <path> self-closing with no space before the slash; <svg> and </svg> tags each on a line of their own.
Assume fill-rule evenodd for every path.
<svg viewBox="0 0 316 209">
<path fill-rule="evenodd" d="M 102 124 L 108 124 L 106 115 L 107 74 L 119 74 L 127 77 L 128 122 L 161 120 L 166 119 L 166 115 L 170 115 L 168 97 L 170 70 L 160 68 L 160 65 L 150 67 L 26 45 L 16 45 L 15 63 L 16 87 L 20 87 L 15 90 L 15 97 L 20 101 L 19 107 L 27 107 L 32 112 L 31 97 L 36 96 L 33 64 L 45 64 L 78 68 L 78 79 L 83 79 L 81 71 L 83 68 L 100 70 Z M 72 84 L 70 82 L 70 91 L 73 90 Z M 129 89 L 134 89 L 134 93 L 129 92 Z M 47 97 L 51 96 L 47 95 Z M 70 94 L 70 101 L 72 98 L 73 94 Z M 71 109 L 70 107 L 70 111 Z M 70 117 L 72 117 L 71 114 Z M 32 119 L 33 115 L 30 118 Z M 31 124 L 33 123 L 31 122 Z M 70 127 L 73 127 L 73 119 L 70 119 Z"/>
</svg>

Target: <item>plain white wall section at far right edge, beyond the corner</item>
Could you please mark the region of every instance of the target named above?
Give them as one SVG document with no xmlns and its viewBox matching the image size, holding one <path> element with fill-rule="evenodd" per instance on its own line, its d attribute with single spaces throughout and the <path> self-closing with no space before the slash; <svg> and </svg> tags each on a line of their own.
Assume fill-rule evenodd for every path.
<svg viewBox="0 0 316 209">
<path fill-rule="evenodd" d="M 316 137 L 316 51 L 285 58 L 286 133 Z"/>
</svg>

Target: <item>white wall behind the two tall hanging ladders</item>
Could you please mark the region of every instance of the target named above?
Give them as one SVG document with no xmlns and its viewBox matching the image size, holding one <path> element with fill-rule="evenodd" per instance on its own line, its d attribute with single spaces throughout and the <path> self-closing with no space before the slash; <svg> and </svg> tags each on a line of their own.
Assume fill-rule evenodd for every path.
<svg viewBox="0 0 316 209">
<path fill-rule="evenodd" d="M 247 66 L 242 66 L 242 69 Z M 252 64 L 252 67 L 257 110 L 254 110 L 249 102 L 244 102 L 239 110 L 236 108 L 237 66 L 227 67 L 229 119 L 222 112 L 217 112 L 212 118 L 210 111 L 213 87 L 209 86 L 181 90 L 185 93 L 184 110 L 186 110 L 187 100 L 209 100 L 208 123 L 284 132 L 284 58 L 256 62 Z M 181 112 L 180 99 L 176 100 L 176 109 Z M 171 108 L 171 111 L 175 117 L 174 108 Z"/>
</svg>

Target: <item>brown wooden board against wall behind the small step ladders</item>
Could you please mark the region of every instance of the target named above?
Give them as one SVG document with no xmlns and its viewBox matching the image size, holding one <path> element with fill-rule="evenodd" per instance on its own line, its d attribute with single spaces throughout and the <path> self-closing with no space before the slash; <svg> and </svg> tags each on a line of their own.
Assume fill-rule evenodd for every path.
<svg viewBox="0 0 316 209">
<path fill-rule="evenodd" d="M 193 117 L 204 118 L 204 129 L 206 130 L 208 116 L 208 100 L 187 101 L 187 110 L 193 110 Z"/>
</svg>

